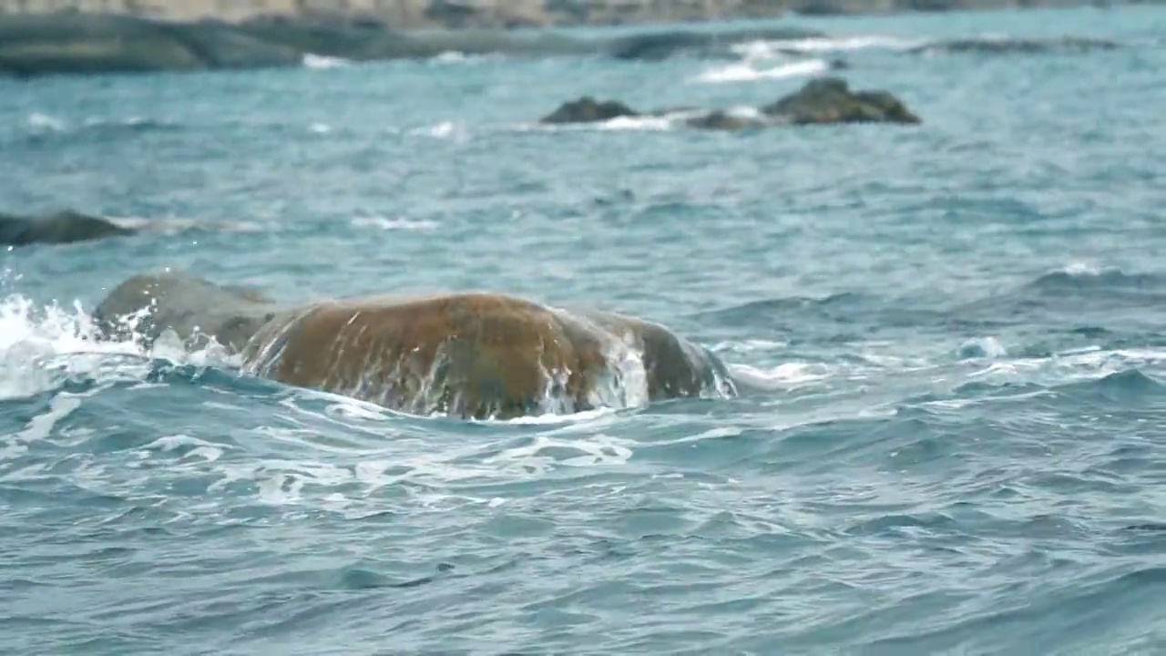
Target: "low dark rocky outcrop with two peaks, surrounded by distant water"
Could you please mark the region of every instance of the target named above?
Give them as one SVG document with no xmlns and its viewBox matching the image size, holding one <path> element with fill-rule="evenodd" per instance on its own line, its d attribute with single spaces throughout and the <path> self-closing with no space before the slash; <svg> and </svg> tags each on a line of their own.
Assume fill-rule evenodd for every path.
<svg viewBox="0 0 1166 656">
<path fill-rule="evenodd" d="M 584 96 L 560 105 L 540 123 L 602 123 L 619 117 L 675 117 L 698 130 L 756 130 L 771 125 L 831 123 L 918 124 L 920 119 L 888 91 L 851 91 L 838 77 L 807 82 L 796 92 L 759 107 L 757 113 L 725 110 L 658 110 L 639 112 L 617 100 Z"/>
</svg>

